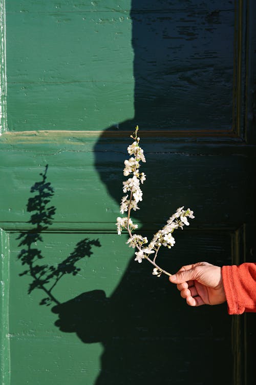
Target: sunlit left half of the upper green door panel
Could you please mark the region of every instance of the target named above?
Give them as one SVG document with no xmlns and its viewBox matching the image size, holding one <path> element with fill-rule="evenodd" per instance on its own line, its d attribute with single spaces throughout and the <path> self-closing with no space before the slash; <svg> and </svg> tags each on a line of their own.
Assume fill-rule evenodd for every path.
<svg viewBox="0 0 256 385">
<path fill-rule="evenodd" d="M 7 2 L 9 130 L 100 130 L 133 116 L 130 2 L 87 3 Z"/>
</svg>

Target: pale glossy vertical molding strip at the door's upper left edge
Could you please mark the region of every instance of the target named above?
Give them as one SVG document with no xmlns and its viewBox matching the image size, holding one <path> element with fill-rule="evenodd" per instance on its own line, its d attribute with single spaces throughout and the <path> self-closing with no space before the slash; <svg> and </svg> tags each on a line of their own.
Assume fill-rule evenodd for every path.
<svg viewBox="0 0 256 385">
<path fill-rule="evenodd" d="M 5 0 L 0 0 L 0 135 L 7 131 L 6 114 L 6 25 L 5 25 Z"/>
</svg>

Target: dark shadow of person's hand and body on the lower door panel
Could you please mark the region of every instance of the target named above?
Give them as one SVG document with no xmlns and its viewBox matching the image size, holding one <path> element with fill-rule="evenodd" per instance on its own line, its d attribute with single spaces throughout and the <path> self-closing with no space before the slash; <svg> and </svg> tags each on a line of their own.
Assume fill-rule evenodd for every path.
<svg viewBox="0 0 256 385">
<path fill-rule="evenodd" d="M 166 279 L 153 277 L 151 270 L 132 260 L 111 297 L 93 290 L 53 307 L 55 326 L 76 333 L 83 343 L 101 342 L 96 385 L 213 384 L 216 357 L 219 369 L 229 360 L 225 349 L 217 348 L 218 338 L 228 333 L 225 310 L 187 309 Z"/>
</svg>

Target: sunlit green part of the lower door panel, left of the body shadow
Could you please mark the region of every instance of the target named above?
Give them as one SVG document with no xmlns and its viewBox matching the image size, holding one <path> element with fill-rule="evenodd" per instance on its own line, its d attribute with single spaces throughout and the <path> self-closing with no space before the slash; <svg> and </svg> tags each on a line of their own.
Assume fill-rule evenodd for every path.
<svg viewBox="0 0 256 385">
<path fill-rule="evenodd" d="M 100 355 L 102 346 L 99 341 L 93 344 L 84 344 L 76 335 L 64 333 L 54 326 L 58 319 L 51 309 L 51 306 L 40 306 L 39 303 L 45 297 L 44 291 L 36 289 L 31 295 L 27 295 L 30 283 L 33 278 L 30 275 L 19 277 L 25 266 L 17 260 L 20 248 L 17 247 L 18 233 L 11 234 L 12 255 L 11 255 L 11 285 L 20 280 L 22 285 L 15 285 L 10 297 L 10 349 L 12 365 L 12 383 L 69 383 L 74 381 L 77 384 L 94 383 L 100 371 Z M 74 250 L 78 242 L 84 238 L 90 241 L 98 239 L 98 234 L 42 234 L 43 242 L 37 247 L 42 250 L 44 259 L 39 265 L 55 265 L 65 260 Z M 123 238 L 123 237 L 122 237 Z M 100 247 L 92 247 L 93 254 L 90 258 L 86 255 L 81 259 L 77 267 L 81 269 L 78 275 L 63 276 L 57 283 L 53 294 L 59 302 L 66 302 L 76 296 L 90 290 L 104 290 L 106 295 L 110 295 L 115 285 L 117 285 L 121 271 L 127 265 L 129 258 L 119 257 L 117 250 L 120 249 L 123 239 L 119 237 L 106 237 L 101 235 Z M 119 247 L 117 246 L 119 244 Z M 115 245 L 115 246 L 114 246 Z M 110 248 L 113 254 L 106 255 L 106 250 Z M 114 255 L 116 254 L 116 257 Z M 130 252 L 131 255 L 131 252 Z M 115 268 L 112 264 L 115 258 Z M 94 260 L 93 260 L 94 259 Z M 37 262 L 38 264 L 38 262 Z M 53 279 L 49 285 L 52 286 Z M 96 283 L 98 282 L 98 283 Z M 49 287 L 46 285 L 46 287 Z M 14 289 L 14 288 L 13 288 Z M 24 301 L 26 295 L 26 301 Z M 83 313 L 84 312 L 84 313 Z M 19 314 L 18 322 L 16 314 Z M 88 311 L 86 305 L 81 304 L 81 314 L 84 317 L 84 327 L 88 332 L 88 339 L 92 333 L 93 318 L 95 315 Z M 95 320 L 94 320 L 95 321 Z M 97 321 L 97 320 L 96 320 Z M 99 320 L 98 320 L 99 321 Z M 88 326 L 86 327 L 86 322 Z M 104 320 L 101 320 L 103 323 Z M 69 325 L 72 328 L 72 325 Z M 102 327 L 99 324 L 99 328 Z M 45 348 L 47 347 L 47 351 Z M 16 363 L 15 363 L 16 362 Z M 24 371 L 22 370 L 22 368 Z M 22 374 L 21 372 L 24 372 Z M 20 383 L 20 382 L 19 382 Z"/>
</svg>

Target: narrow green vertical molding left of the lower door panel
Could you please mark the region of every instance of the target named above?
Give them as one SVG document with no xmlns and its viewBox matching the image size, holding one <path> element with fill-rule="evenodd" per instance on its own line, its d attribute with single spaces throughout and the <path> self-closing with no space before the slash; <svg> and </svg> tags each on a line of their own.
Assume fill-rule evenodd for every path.
<svg viewBox="0 0 256 385">
<path fill-rule="evenodd" d="M 1 232 L 1 269 L 0 269 L 0 287 L 1 287 L 1 350 L 0 350 L 0 379 L 2 385 L 10 384 L 10 340 L 9 340 L 9 261 L 10 247 L 9 234 L 4 230 Z"/>
</svg>

